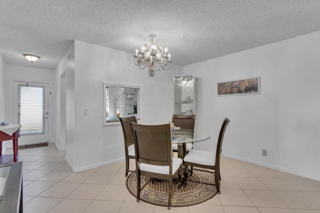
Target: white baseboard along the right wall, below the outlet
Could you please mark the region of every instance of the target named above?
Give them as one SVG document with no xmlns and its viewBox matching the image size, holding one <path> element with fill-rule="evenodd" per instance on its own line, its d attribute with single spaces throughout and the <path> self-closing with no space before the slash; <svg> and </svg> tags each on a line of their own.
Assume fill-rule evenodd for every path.
<svg viewBox="0 0 320 213">
<path fill-rule="evenodd" d="M 265 163 L 261 163 L 261 162 L 258 162 L 258 161 L 252 161 L 252 160 L 249 160 L 249 159 L 246 159 L 246 158 L 240 158 L 240 157 L 232 156 L 232 155 L 228 155 L 228 154 L 221 154 L 221 156 L 227 157 L 227 158 L 232 158 L 232 159 L 239 160 L 239 161 L 244 161 L 244 162 L 247 162 L 247 163 L 250 163 L 250 164 L 259 165 L 259 166 L 266 167 L 266 168 L 269 168 L 269 169 L 278 170 L 278 171 L 289 173 L 289 174 L 292 174 L 292 175 L 297 175 L 297 176 L 300 176 L 300 177 L 304 177 L 304 178 L 320 181 L 320 177 L 315 176 L 315 175 L 306 174 L 306 173 L 298 172 L 298 171 L 295 171 L 295 170 L 290 170 L 290 169 L 287 169 L 287 168 L 278 167 L 278 166 L 275 166 L 275 165 L 265 164 Z"/>
</svg>

